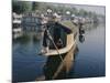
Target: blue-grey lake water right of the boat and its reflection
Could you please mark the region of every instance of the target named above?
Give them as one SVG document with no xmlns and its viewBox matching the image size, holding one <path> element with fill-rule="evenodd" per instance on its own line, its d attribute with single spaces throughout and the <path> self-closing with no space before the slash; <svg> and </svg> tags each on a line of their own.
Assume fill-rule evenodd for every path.
<svg viewBox="0 0 110 83">
<path fill-rule="evenodd" d="M 92 25 L 91 25 L 92 28 Z M 78 41 L 79 52 L 69 77 L 96 77 L 106 74 L 106 28 L 94 25 L 86 30 L 85 41 Z"/>
</svg>

